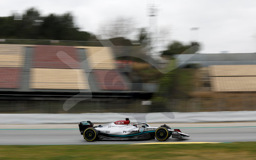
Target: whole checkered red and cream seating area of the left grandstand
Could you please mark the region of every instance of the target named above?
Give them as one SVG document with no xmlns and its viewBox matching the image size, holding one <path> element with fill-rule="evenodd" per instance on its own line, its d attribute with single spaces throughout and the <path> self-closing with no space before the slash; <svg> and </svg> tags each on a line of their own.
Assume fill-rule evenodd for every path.
<svg viewBox="0 0 256 160">
<path fill-rule="evenodd" d="M 87 61 L 83 63 L 88 63 L 88 67 L 82 67 L 79 63 L 78 54 L 81 54 L 77 51 L 79 48 L 84 49 Z M 60 60 L 57 56 L 58 51 L 65 52 L 68 57 L 61 57 Z M 32 56 L 31 63 L 30 59 L 25 59 L 26 54 Z M 2 89 L 90 89 L 85 73 L 91 70 L 95 81 L 90 83 L 98 86 L 96 90 L 128 90 L 124 77 L 116 68 L 110 47 L 0 44 L 0 88 Z"/>
</svg>

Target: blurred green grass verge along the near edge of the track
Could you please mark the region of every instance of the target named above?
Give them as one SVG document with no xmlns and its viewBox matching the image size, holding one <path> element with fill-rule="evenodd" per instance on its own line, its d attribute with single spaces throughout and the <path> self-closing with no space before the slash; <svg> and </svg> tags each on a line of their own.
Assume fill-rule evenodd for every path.
<svg viewBox="0 0 256 160">
<path fill-rule="evenodd" d="M 163 145 L 2 145 L 0 159 L 256 159 L 256 142 Z"/>
</svg>

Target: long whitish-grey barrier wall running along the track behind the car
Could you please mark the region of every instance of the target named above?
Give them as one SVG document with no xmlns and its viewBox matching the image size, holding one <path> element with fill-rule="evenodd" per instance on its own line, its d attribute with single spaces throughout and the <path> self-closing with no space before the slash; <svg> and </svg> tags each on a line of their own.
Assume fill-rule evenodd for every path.
<svg viewBox="0 0 256 160">
<path fill-rule="evenodd" d="M 256 111 L 165 112 L 165 113 L 82 113 L 82 114 L 0 114 L 0 124 L 108 123 L 130 118 L 132 123 L 196 123 L 256 121 Z"/>
</svg>

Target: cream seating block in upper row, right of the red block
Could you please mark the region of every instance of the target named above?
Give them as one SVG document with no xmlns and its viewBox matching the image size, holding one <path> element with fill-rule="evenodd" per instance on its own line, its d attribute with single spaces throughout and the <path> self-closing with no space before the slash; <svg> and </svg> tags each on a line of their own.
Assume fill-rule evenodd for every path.
<svg viewBox="0 0 256 160">
<path fill-rule="evenodd" d="M 77 46 L 76 48 L 86 49 L 87 62 L 91 69 L 116 69 L 110 47 Z"/>
</svg>

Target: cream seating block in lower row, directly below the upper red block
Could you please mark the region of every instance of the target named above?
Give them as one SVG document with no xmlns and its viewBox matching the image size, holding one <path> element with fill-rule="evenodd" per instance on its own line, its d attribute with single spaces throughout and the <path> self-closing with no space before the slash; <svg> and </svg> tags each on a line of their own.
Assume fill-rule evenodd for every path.
<svg viewBox="0 0 256 160">
<path fill-rule="evenodd" d="M 30 88 L 89 89 L 82 69 L 31 68 Z"/>
</svg>

